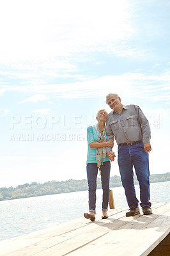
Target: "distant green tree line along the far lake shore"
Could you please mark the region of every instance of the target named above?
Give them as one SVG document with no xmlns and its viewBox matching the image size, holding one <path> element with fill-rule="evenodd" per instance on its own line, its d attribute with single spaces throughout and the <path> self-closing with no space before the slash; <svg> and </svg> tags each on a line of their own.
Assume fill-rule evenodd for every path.
<svg viewBox="0 0 170 256">
<path fill-rule="evenodd" d="M 151 174 L 150 182 L 170 181 L 170 172 L 163 174 Z M 138 184 L 137 177 L 134 175 L 134 183 Z M 120 176 L 114 175 L 110 179 L 110 188 L 120 187 Z M 97 178 L 97 188 L 102 188 L 100 178 Z M 19 185 L 16 188 L 0 188 L 0 201 L 26 198 L 32 196 L 54 195 L 60 193 L 69 193 L 75 191 L 88 190 L 88 182 L 83 180 L 52 180 L 45 183 L 32 182 L 31 184 Z"/>
</svg>

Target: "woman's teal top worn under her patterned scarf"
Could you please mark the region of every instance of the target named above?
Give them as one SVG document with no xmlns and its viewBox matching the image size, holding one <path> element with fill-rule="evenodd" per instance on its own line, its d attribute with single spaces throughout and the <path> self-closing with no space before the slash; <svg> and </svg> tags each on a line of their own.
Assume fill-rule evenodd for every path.
<svg viewBox="0 0 170 256">
<path fill-rule="evenodd" d="M 106 140 L 107 136 L 105 136 L 105 140 Z M 97 135 L 97 131 L 95 126 L 89 126 L 87 129 L 87 139 L 88 139 L 88 157 L 87 157 L 87 164 L 88 163 L 97 163 L 97 159 L 96 159 L 96 152 L 97 152 L 97 148 L 91 148 L 89 147 L 89 143 L 92 143 L 93 141 L 98 140 L 98 135 Z M 105 159 L 103 159 L 104 162 L 109 161 L 109 158 L 105 157 Z"/>
</svg>

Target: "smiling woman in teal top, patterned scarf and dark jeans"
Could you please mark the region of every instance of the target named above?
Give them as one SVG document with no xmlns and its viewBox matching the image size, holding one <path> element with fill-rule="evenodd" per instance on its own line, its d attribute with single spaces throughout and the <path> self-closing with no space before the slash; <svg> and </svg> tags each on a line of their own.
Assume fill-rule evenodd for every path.
<svg viewBox="0 0 170 256">
<path fill-rule="evenodd" d="M 106 141 L 105 121 L 107 111 L 101 109 L 97 113 L 98 123 L 95 126 L 89 126 L 88 132 L 88 157 L 87 157 L 87 176 L 89 188 L 89 213 L 84 213 L 84 217 L 95 221 L 96 211 L 96 189 L 98 169 L 101 173 L 103 202 L 102 219 L 108 218 L 107 207 L 109 203 L 109 179 L 111 163 L 106 154 L 106 147 L 113 147 L 113 141 Z"/>
</svg>

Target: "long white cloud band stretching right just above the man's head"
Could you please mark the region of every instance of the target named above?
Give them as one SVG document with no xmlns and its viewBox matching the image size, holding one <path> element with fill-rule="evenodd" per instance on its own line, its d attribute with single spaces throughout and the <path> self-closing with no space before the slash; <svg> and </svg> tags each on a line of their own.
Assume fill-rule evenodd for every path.
<svg viewBox="0 0 170 256">
<path fill-rule="evenodd" d="M 166 77 L 166 78 L 165 78 Z M 87 98 L 103 97 L 107 93 L 118 92 L 121 97 L 137 97 L 148 102 L 166 101 L 170 99 L 170 74 L 147 76 L 143 73 L 125 73 L 120 76 L 103 76 L 89 81 L 65 84 L 38 84 L 34 86 L 13 86 L 6 90 L 35 94 L 22 102 L 38 102 L 54 98 Z"/>
</svg>

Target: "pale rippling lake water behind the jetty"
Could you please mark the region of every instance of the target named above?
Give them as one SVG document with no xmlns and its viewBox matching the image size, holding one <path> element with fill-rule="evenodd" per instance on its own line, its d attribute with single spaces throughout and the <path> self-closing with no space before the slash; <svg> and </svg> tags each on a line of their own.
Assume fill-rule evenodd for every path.
<svg viewBox="0 0 170 256">
<path fill-rule="evenodd" d="M 124 189 L 111 188 L 116 208 L 128 207 Z M 151 183 L 151 203 L 170 202 L 170 182 Z M 135 186 L 139 199 L 139 186 Z M 97 214 L 102 215 L 102 189 L 97 189 Z M 36 196 L 0 202 L 0 240 L 73 220 L 88 212 L 88 191 Z"/>
</svg>

